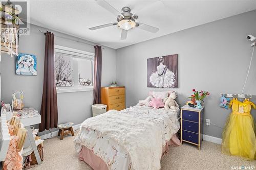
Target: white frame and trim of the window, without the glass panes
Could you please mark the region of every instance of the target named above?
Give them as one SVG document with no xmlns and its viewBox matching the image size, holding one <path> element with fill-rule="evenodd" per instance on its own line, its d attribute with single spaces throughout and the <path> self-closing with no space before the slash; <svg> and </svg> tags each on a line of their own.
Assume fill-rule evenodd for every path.
<svg viewBox="0 0 256 170">
<path fill-rule="evenodd" d="M 78 78 L 78 75 L 74 76 L 74 61 L 73 58 L 83 58 L 94 61 L 94 53 L 77 50 L 75 48 L 70 48 L 61 45 L 54 45 L 54 55 L 56 53 L 66 54 L 72 57 L 72 86 L 71 87 L 56 87 L 57 93 L 66 93 L 66 92 L 79 92 L 79 91 L 93 91 L 93 80 L 94 80 L 94 71 L 92 66 L 92 85 L 91 86 L 79 86 L 74 82 L 78 82 L 79 80 L 75 80 Z M 55 59 L 54 59 L 55 60 Z M 78 64 L 77 64 L 78 66 Z M 55 68 L 55 66 L 54 66 Z M 76 68 L 78 69 L 78 67 Z M 55 71 L 54 71 L 55 72 Z M 54 73 L 55 74 L 55 73 Z M 78 71 L 77 71 L 78 74 Z"/>
</svg>

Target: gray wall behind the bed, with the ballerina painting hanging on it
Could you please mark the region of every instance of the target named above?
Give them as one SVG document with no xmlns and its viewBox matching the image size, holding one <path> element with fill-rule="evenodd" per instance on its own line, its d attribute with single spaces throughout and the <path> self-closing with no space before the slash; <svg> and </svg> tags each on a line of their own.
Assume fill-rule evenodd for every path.
<svg viewBox="0 0 256 170">
<path fill-rule="evenodd" d="M 210 22 L 117 50 L 117 80 L 126 87 L 126 107 L 145 99 L 147 88 L 146 59 L 178 54 L 178 103 L 182 106 L 192 89 L 208 90 L 205 117 L 223 127 L 230 113 L 219 107 L 220 93 L 241 93 L 250 62 L 252 47 L 246 39 L 256 35 L 256 10 Z M 245 93 L 256 93 L 256 54 Z M 254 100 L 252 100 L 254 102 Z M 256 115 L 255 110 L 252 114 Z M 221 138 L 222 129 L 204 126 L 206 135 Z"/>
</svg>

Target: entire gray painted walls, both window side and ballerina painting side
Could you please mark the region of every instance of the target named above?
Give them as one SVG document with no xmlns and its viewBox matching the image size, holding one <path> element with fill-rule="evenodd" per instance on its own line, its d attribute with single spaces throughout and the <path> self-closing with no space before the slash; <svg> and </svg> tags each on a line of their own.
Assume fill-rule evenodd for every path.
<svg viewBox="0 0 256 170">
<path fill-rule="evenodd" d="M 102 50 L 102 86 L 117 79 L 119 85 L 126 86 L 126 107 L 144 99 L 149 90 L 165 90 L 146 87 L 146 59 L 169 54 L 179 54 L 179 88 L 177 101 L 184 105 L 191 89 L 209 90 L 211 95 L 205 100 L 205 118 L 223 127 L 230 110 L 219 107 L 220 93 L 241 93 L 247 74 L 252 47 L 246 35 L 256 35 L 256 11 L 232 16 L 195 28 L 183 30 L 117 51 L 104 47 Z M 42 79 L 44 76 L 45 35 L 31 26 L 31 35 L 20 37 L 19 52 L 37 56 L 37 76 L 15 75 L 15 59 L 2 54 L 2 99 L 11 103 L 15 90 L 25 93 L 26 107 L 40 110 Z M 65 34 L 55 35 L 77 40 Z M 94 52 L 91 45 L 55 37 L 57 45 Z M 245 93 L 256 93 L 255 54 Z M 166 89 L 167 90 L 167 89 Z M 93 91 L 58 93 L 59 123 L 81 123 L 91 116 Z M 252 100 L 256 102 L 255 99 Z M 252 111 L 255 117 L 256 112 Z M 221 137 L 222 129 L 204 127 L 204 133 Z"/>
</svg>

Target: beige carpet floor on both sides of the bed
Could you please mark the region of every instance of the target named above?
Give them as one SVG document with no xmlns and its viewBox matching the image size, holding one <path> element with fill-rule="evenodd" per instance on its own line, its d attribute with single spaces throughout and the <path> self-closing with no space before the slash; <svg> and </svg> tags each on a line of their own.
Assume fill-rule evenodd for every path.
<svg viewBox="0 0 256 170">
<path fill-rule="evenodd" d="M 34 169 L 91 169 L 85 162 L 78 160 L 73 144 L 74 137 L 66 136 L 47 139 L 45 160 Z M 171 147 L 161 161 L 161 169 L 231 169 L 231 166 L 255 166 L 256 161 L 245 161 L 239 157 L 221 154 L 221 145 L 203 141 L 201 151 L 191 144 L 183 143 L 181 147 Z M 122 169 L 117 169 L 122 170 Z"/>
</svg>

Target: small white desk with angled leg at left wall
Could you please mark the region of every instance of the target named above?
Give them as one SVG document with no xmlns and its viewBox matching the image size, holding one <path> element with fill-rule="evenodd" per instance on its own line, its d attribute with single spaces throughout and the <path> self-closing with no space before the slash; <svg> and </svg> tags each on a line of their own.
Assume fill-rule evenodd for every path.
<svg viewBox="0 0 256 170">
<path fill-rule="evenodd" d="M 6 105 L 6 107 L 9 111 L 3 112 L 3 107 L 2 107 L 1 115 L 2 114 L 7 114 L 8 117 L 11 118 L 12 114 L 13 114 L 12 109 L 11 109 L 11 105 L 10 104 L 5 104 L 5 105 Z M 41 161 L 41 158 L 39 156 L 39 153 L 38 153 L 38 150 L 37 150 L 37 147 L 36 147 L 36 144 L 35 144 L 35 139 L 33 137 L 32 130 L 31 130 L 30 126 L 40 124 L 41 123 L 41 115 L 38 113 L 37 110 L 35 110 L 33 108 L 24 108 L 23 110 L 14 111 L 14 112 L 17 112 L 18 115 L 20 114 L 20 116 L 18 116 L 19 119 L 20 119 L 20 123 L 22 123 L 24 125 L 24 127 L 28 130 L 28 133 L 27 133 L 28 134 L 28 139 L 29 139 L 30 145 L 31 145 L 31 147 L 34 151 L 37 163 L 39 165 L 39 164 L 42 163 L 42 161 Z M 11 116 L 10 116 L 10 114 L 11 114 Z"/>
</svg>

